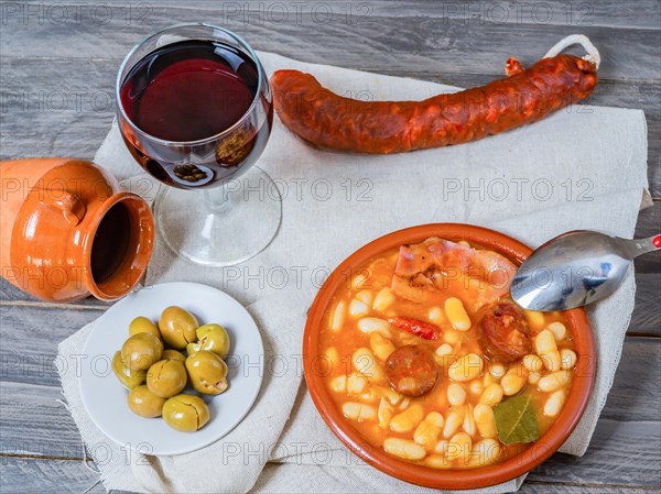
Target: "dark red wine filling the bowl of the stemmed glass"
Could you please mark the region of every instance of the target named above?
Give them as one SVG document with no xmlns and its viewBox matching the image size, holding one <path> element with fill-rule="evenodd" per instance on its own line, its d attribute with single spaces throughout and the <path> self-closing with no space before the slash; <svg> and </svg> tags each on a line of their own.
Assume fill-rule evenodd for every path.
<svg viewBox="0 0 661 494">
<path fill-rule="evenodd" d="M 234 46 L 183 41 L 158 48 L 121 85 L 127 117 L 148 134 L 129 130 L 127 135 L 122 125 L 124 141 L 138 162 L 169 185 L 217 185 L 252 164 L 266 146 L 272 106 L 270 91 L 258 90 L 257 64 Z M 261 114 L 250 111 L 256 98 Z"/>
</svg>

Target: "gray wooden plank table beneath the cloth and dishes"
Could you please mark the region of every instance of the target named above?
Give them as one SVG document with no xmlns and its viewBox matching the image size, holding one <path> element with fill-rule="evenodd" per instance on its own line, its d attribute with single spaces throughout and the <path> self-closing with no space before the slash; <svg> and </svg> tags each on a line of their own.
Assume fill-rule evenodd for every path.
<svg viewBox="0 0 661 494">
<path fill-rule="evenodd" d="M 654 205 L 636 234 L 661 226 L 661 13 L 657 0 L 386 2 L 0 2 L 0 157 L 91 158 L 112 121 L 113 83 L 130 47 L 169 24 L 205 20 L 256 48 L 308 62 L 469 87 L 500 77 L 505 61 L 534 62 L 578 32 L 599 47 L 594 105 L 640 108 L 649 130 Z M 607 211 L 605 211 L 607 213 Z M 636 263 L 636 309 L 589 450 L 555 454 L 522 492 L 661 490 L 661 256 Z M 57 343 L 107 305 L 37 301 L 1 292 L 0 492 L 83 492 L 97 475 L 61 397 Z M 91 492 L 102 492 L 97 484 Z"/>
</svg>

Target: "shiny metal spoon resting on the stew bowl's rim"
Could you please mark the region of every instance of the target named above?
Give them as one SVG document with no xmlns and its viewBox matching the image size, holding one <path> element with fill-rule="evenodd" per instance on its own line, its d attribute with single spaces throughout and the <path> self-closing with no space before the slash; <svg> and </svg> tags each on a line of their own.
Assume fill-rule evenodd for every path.
<svg viewBox="0 0 661 494">
<path fill-rule="evenodd" d="M 633 257 L 661 249 L 661 234 L 620 239 L 577 230 L 534 251 L 517 271 L 512 298 L 529 310 L 566 310 L 614 293 Z"/>
</svg>

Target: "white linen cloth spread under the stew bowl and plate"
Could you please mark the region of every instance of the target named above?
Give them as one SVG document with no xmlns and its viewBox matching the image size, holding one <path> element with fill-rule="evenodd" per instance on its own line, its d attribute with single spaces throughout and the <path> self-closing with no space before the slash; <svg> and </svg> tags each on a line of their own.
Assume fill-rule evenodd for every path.
<svg viewBox="0 0 661 494">
<path fill-rule="evenodd" d="M 305 64 L 269 53 L 260 53 L 259 57 L 269 74 L 278 68 L 296 68 L 314 74 L 339 94 L 375 100 L 422 99 L 456 90 L 420 80 Z M 116 125 L 95 161 L 122 179 L 140 171 Z M 275 118 L 259 166 L 275 179 L 283 196 L 282 226 L 273 243 L 238 266 L 208 268 L 176 257 L 156 241 L 145 283 L 195 281 L 216 286 L 246 305 L 253 304 L 249 310 L 264 321 L 260 329 L 266 336 L 275 334 L 280 323 L 278 317 L 269 323 L 270 318 L 260 317 L 261 311 L 277 316 L 288 310 L 280 303 L 270 307 L 273 301 L 267 300 L 273 296 L 296 300 L 299 305 L 292 315 L 286 315 L 291 316 L 289 323 L 295 334 L 282 341 L 286 354 L 301 349 L 304 316 L 296 319 L 295 314 L 307 309 L 324 273 L 384 233 L 447 221 L 500 230 L 532 246 L 573 229 L 631 237 L 641 197 L 643 204 L 649 202 L 647 129 L 640 110 L 574 106 L 541 122 L 475 143 L 390 156 L 311 147 Z M 133 185 L 140 183 L 134 188 L 148 199 L 153 198 L 158 187 L 153 180 L 143 179 L 133 180 Z M 595 389 L 581 424 L 561 451 L 582 455 L 589 443 L 620 358 L 633 293 L 631 271 L 615 295 L 588 310 L 598 349 Z M 85 331 L 62 343 L 62 356 L 82 348 Z M 108 490 L 427 491 L 391 479 L 357 460 L 325 427 L 304 385 L 292 408 L 294 402 L 289 393 L 293 380 L 273 378 L 264 385 L 264 395 L 288 398 L 271 408 L 268 422 L 256 418 L 262 414 L 260 400 L 231 438 L 227 436 L 181 457 L 134 457 L 131 464 L 126 463 L 123 455 L 105 461 L 95 457 L 93 446 L 109 441 L 86 415 L 75 376 L 62 375 L 62 381 L 83 440 L 97 460 Z M 282 389 L 285 386 L 288 389 Z M 268 403 L 266 398 L 264 402 Z M 232 461 L 226 464 L 228 454 L 227 450 L 221 454 L 223 444 L 230 439 L 242 446 L 232 450 Z M 266 455 L 256 452 L 259 448 L 267 451 Z M 214 469 L 205 470 L 204 480 L 191 469 L 201 458 L 214 464 Z M 260 475 L 266 460 L 272 463 Z M 523 479 L 524 475 L 483 492 L 513 492 Z"/>
</svg>

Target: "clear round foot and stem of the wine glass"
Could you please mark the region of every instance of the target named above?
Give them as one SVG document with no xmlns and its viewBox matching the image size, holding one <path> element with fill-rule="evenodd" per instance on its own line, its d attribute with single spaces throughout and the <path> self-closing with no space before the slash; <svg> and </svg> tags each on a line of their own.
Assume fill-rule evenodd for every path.
<svg viewBox="0 0 661 494">
<path fill-rule="evenodd" d="M 271 177 L 252 166 L 204 194 L 161 187 L 154 217 L 161 239 L 177 255 L 205 266 L 231 266 L 271 243 L 282 199 Z"/>
</svg>

